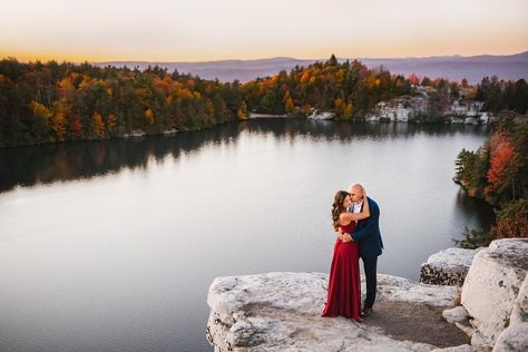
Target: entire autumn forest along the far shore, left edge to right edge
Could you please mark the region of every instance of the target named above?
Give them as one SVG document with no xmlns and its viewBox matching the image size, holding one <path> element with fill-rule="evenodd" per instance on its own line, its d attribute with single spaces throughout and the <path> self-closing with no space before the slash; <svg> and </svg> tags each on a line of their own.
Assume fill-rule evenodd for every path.
<svg viewBox="0 0 528 352">
<path fill-rule="evenodd" d="M 485 101 L 485 110 L 526 114 L 528 86 L 485 78 L 477 87 L 443 78 L 391 75 L 360 61 L 339 62 L 335 56 L 307 67 L 283 70 L 241 84 L 205 80 L 177 70 L 148 67 L 96 67 L 88 62 L 0 61 L 0 147 L 68 140 L 92 140 L 133 134 L 201 129 L 242 120 L 248 113 L 287 116 L 332 111 L 338 119 L 363 119 L 383 100 L 412 95 L 430 86 L 430 116 L 458 98 Z"/>
</svg>

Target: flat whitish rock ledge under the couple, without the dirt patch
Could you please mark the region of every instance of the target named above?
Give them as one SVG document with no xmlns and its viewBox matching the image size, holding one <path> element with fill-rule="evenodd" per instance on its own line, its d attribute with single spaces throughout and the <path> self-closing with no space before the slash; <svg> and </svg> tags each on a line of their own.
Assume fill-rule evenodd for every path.
<svg viewBox="0 0 528 352">
<path fill-rule="evenodd" d="M 379 275 L 379 302 L 454 305 L 458 290 Z M 321 317 L 327 274 L 268 273 L 216 278 L 209 287 L 207 339 L 215 351 L 431 351 L 375 326 Z"/>
</svg>

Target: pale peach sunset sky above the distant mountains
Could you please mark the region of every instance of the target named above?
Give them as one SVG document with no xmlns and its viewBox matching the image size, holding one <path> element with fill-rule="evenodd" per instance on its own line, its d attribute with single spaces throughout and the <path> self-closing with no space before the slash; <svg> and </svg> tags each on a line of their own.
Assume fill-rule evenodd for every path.
<svg viewBox="0 0 528 352">
<path fill-rule="evenodd" d="M 0 58 L 20 61 L 528 50 L 528 0 L 0 0 Z"/>
</svg>

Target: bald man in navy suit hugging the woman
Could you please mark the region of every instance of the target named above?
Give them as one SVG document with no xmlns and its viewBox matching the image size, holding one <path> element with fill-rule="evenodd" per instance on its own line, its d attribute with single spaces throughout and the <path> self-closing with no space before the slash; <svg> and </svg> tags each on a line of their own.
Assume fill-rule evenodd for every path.
<svg viewBox="0 0 528 352">
<path fill-rule="evenodd" d="M 363 208 L 363 202 L 365 201 L 363 186 L 352 184 L 349 188 L 349 193 L 353 202 L 349 212 L 360 213 Z M 370 217 L 359 221 L 352 235 L 340 235 L 342 241 L 358 242 L 360 247 L 360 256 L 363 261 L 366 282 L 366 295 L 363 311 L 361 312 L 363 317 L 372 314 L 372 306 L 375 300 L 378 256 L 381 255 L 383 248 L 383 241 L 381 239 L 380 233 L 380 208 L 370 197 L 366 197 L 366 202 L 369 202 L 370 206 Z"/>
</svg>

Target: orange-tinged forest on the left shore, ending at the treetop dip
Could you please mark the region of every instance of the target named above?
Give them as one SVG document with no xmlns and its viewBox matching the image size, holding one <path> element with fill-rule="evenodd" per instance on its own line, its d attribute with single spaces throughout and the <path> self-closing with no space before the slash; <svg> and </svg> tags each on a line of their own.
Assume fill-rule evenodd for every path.
<svg viewBox="0 0 528 352">
<path fill-rule="evenodd" d="M 198 129 L 246 115 L 237 81 L 159 67 L 0 61 L 0 146 Z"/>
</svg>

